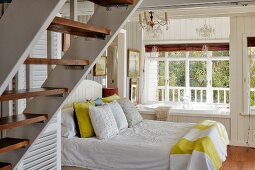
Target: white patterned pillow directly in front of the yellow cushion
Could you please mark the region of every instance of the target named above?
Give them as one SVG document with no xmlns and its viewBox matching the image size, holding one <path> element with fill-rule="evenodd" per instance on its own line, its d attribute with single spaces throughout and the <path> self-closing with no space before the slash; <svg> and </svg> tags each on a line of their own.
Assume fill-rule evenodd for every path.
<svg viewBox="0 0 255 170">
<path fill-rule="evenodd" d="M 98 139 L 107 139 L 119 133 L 117 123 L 108 105 L 91 106 L 89 115 Z"/>
</svg>

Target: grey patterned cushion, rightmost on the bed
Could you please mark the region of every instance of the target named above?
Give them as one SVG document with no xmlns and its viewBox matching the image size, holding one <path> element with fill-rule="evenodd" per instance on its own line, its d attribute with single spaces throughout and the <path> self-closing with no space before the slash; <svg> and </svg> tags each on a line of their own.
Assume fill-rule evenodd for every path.
<svg viewBox="0 0 255 170">
<path fill-rule="evenodd" d="M 129 99 L 119 99 L 117 102 L 120 104 L 126 115 L 129 127 L 133 127 L 143 120 L 135 105 Z"/>
</svg>

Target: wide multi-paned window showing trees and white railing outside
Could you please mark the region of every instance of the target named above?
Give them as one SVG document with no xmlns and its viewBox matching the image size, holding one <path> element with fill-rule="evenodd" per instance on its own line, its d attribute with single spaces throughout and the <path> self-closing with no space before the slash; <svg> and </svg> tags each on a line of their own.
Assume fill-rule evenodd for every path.
<svg viewBox="0 0 255 170">
<path fill-rule="evenodd" d="M 146 55 L 145 84 L 149 101 L 180 102 L 188 96 L 196 103 L 229 104 L 228 51 L 161 52 L 160 57 L 151 57 L 151 53 Z"/>
</svg>

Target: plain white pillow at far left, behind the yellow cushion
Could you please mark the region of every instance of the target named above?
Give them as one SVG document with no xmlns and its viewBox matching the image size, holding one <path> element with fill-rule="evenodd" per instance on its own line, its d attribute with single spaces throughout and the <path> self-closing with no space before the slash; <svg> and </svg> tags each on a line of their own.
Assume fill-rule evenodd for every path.
<svg viewBox="0 0 255 170">
<path fill-rule="evenodd" d="M 73 108 L 61 110 L 61 136 L 72 138 L 76 135 L 75 123 L 73 118 Z"/>
</svg>

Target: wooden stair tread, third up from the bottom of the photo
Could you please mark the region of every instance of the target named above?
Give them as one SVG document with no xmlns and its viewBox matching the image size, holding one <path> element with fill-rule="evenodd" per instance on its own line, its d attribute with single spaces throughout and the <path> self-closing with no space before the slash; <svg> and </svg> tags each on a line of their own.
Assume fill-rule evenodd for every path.
<svg viewBox="0 0 255 170">
<path fill-rule="evenodd" d="M 19 114 L 0 118 L 0 130 L 42 122 L 48 119 L 47 114 Z"/>
</svg>

